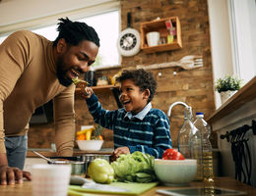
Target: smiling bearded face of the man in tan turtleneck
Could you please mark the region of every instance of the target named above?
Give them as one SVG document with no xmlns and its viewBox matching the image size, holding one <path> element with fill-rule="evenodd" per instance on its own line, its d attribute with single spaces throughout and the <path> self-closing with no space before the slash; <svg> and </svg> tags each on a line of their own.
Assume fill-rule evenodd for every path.
<svg viewBox="0 0 256 196">
<path fill-rule="evenodd" d="M 98 47 L 92 41 L 84 40 L 79 45 L 73 46 L 67 45 L 64 40 L 61 55 L 57 59 L 59 82 L 64 86 L 69 86 L 73 78 L 88 72 L 90 66 L 96 61 L 97 52 Z"/>
</svg>

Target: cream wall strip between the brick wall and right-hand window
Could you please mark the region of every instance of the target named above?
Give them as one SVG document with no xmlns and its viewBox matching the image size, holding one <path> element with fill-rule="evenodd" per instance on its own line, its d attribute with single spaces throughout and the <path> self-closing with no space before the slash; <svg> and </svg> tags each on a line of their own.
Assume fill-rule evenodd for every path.
<svg viewBox="0 0 256 196">
<path fill-rule="evenodd" d="M 228 21 L 227 0 L 208 0 L 213 76 L 223 77 L 233 74 L 230 29 Z M 221 98 L 215 93 L 216 106 L 221 106 Z"/>
</svg>

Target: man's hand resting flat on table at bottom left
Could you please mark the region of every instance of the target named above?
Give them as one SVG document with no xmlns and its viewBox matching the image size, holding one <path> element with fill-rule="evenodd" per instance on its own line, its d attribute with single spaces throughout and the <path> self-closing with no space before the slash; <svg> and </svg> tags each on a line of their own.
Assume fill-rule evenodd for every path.
<svg viewBox="0 0 256 196">
<path fill-rule="evenodd" d="M 21 171 L 18 168 L 10 168 L 6 165 L 0 166 L 0 184 L 21 184 L 23 183 L 23 177 L 26 177 L 29 180 L 32 180 L 32 176 L 30 172 Z"/>
</svg>

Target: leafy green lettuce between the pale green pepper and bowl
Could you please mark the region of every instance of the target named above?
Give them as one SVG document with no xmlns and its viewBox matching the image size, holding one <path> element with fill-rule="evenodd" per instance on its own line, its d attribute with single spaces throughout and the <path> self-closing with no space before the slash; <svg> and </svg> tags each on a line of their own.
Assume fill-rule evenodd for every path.
<svg viewBox="0 0 256 196">
<path fill-rule="evenodd" d="M 136 151 L 120 155 L 111 166 L 118 181 L 147 183 L 156 181 L 154 163 L 155 157 Z"/>
</svg>

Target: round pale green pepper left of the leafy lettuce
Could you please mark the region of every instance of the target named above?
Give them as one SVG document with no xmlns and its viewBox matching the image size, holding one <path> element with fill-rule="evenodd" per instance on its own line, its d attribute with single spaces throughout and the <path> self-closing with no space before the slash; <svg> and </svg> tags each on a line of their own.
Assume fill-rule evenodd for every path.
<svg viewBox="0 0 256 196">
<path fill-rule="evenodd" d="M 111 183 L 114 180 L 114 170 L 104 159 L 97 158 L 88 167 L 88 174 L 97 183 Z"/>
</svg>

